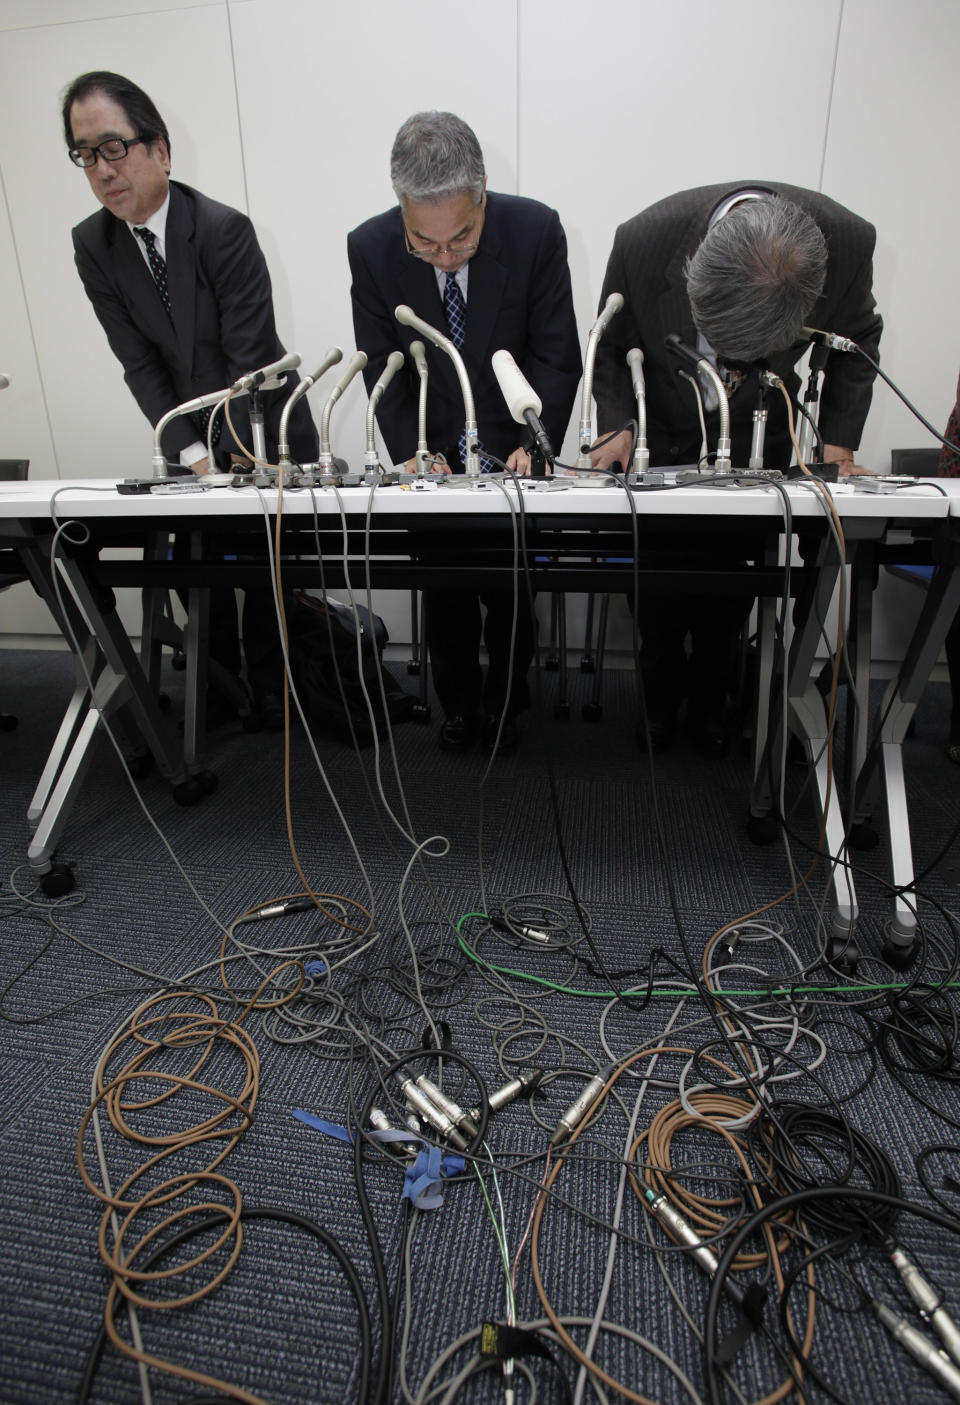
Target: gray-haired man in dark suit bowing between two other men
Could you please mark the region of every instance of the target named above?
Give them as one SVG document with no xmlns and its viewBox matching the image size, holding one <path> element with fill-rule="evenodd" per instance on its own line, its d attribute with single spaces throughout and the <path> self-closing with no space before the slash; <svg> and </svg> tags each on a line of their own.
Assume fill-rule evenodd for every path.
<svg viewBox="0 0 960 1405">
<path fill-rule="evenodd" d="M 557 212 L 533 200 L 486 190 L 474 132 L 451 112 L 419 112 L 401 128 L 391 155 L 399 205 L 368 219 L 347 239 L 357 347 L 367 353 L 367 385 L 391 351 L 408 351 L 416 332 L 394 309 L 408 303 L 460 344 L 469 375 L 481 450 L 519 473 L 530 472 L 530 443 L 510 417 L 491 368 L 510 351 L 543 400 L 543 422 L 559 445 L 580 378 L 566 240 Z M 427 443 L 461 472 L 464 400 L 453 361 L 433 344 L 429 364 Z M 415 462 L 419 379 L 408 360 L 378 410 L 395 464 Z M 489 666 L 479 666 L 481 610 Z M 516 745 L 516 715 L 528 707 L 527 669 L 534 627 L 521 599 L 510 673 L 513 596 L 503 590 L 429 592 L 433 679 L 446 721 L 440 745 L 462 750 L 481 733 L 499 749 Z"/>
</svg>

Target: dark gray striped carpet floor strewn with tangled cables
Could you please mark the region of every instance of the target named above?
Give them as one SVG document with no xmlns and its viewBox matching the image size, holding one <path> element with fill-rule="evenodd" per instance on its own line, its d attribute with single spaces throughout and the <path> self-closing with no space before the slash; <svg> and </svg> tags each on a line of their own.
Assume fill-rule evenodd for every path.
<svg viewBox="0 0 960 1405">
<path fill-rule="evenodd" d="M 100 1055 L 152 991 L 170 988 L 187 972 L 215 962 L 222 926 L 253 905 L 298 892 L 301 881 L 285 825 L 283 735 L 247 735 L 231 724 L 209 739 L 216 788 L 191 808 L 177 805 L 156 773 L 139 783 L 138 799 L 107 738 L 98 735 L 58 851 L 59 860 L 73 865 L 76 888 L 52 902 L 35 889 L 24 867 L 25 813 L 70 693 L 73 666 L 62 653 L 22 651 L 1 653 L 0 670 L 3 708 L 18 715 L 17 729 L 0 733 L 0 1399 L 46 1405 L 77 1397 L 111 1286 L 97 1250 L 103 1204 L 83 1184 L 76 1161 L 77 1132 Z M 164 677 L 173 715 L 181 707 L 181 687 L 180 674 Z M 572 715 L 561 721 L 554 715 L 557 679 L 544 674 L 543 704 L 527 714 L 520 749 L 495 762 L 489 773 L 479 752 L 450 756 L 439 750 L 436 712 L 429 726 L 398 726 L 396 774 L 385 750 L 382 792 L 372 747 L 358 759 L 340 742 L 319 738 L 323 780 L 305 738 L 295 731 L 291 812 L 299 863 L 312 887 L 346 899 L 336 910 L 353 926 L 363 926 L 363 920 L 357 923 L 358 909 L 350 905 L 372 912 L 377 934 L 361 941 L 315 912 L 242 929 L 273 954 L 264 950 L 232 964 L 238 991 L 256 988 L 260 974 L 284 954 L 333 964 L 335 972 L 326 978 L 315 971 L 315 999 L 297 1003 L 298 1026 L 263 1013 L 245 1020 L 259 1055 L 259 1096 L 249 1130 L 218 1168 L 239 1189 L 249 1211 L 243 1245 L 232 1272 L 201 1301 L 139 1314 L 150 1354 L 231 1381 L 233 1398 L 273 1405 L 358 1398 L 363 1346 L 349 1283 L 309 1228 L 257 1217 L 264 1207 L 278 1207 L 319 1222 L 356 1264 L 372 1321 L 372 1374 L 380 1378 L 384 1324 L 353 1151 L 299 1121 L 294 1110 L 347 1124 L 351 1109 L 356 1113 L 378 1087 L 371 1050 L 382 1055 L 382 1068 L 385 1051 L 420 1047 L 424 1035 L 430 1037 L 426 1012 L 488 1090 L 505 1080 L 505 1069 L 516 1066 L 541 1068 L 550 1078 L 540 1097 L 519 1100 L 491 1118 L 484 1184 L 467 1166 L 446 1184 L 437 1210 L 410 1215 L 405 1208 L 409 1201 L 401 1198 L 403 1166 L 375 1146 L 364 1154 L 365 1193 L 389 1298 L 398 1307 L 388 1343 L 395 1361 L 385 1397 L 391 1405 L 403 1401 L 405 1391 L 406 1398 L 417 1398 L 440 1353 L 464 1333 L 486 1321 L 505 1321 L 506 1276 L 495 1222 L 507 1257 L 519 1256 L 517 1318 L 543 1316 L 528 1243 L 521 1252 L 521 1242 L 544 1176 L 550 1134 L 583 1087 L 585 1075 L 644 1044 L 669 1041 L 700 1051 L 701 1062 L 686 1075 L 699 1083 L 707 1066 L 703 1061 L 722 1055 L 717 1024 L 700 995 L 658 993 L 642 1006 L 637 999 L 611 1000 L 603 992 L 609 979 L 618 989 L 642 988 L 655 951 L 663 953 L 655 962 L 663 985 L 676 989 L 677 982 L 689 982 L 717 929 L 781 899 L 794 878 L 807 873 L 807 846 L 815 842 L 817 826 L 805 771 L 790 767 L 787 777 L 796 833 L 791 857 L 783 843 L 755 847 L 745 832 L 748 762 L 738 747 L 722 760 L 706 762 L 680 740 L 651 767 L 634 740 L 630 673 L 604 679 L 599 724 L 580 718 L 590 687 L 589 677 L 571 676 Z M 947 718 L 946 686 L 932 684 L 918 710 L 916 733 L 905 745 L 918 873 L 938 858 L 960 823 L 960 769 L 945 752 Z M 415 846 L 423 846 L 420 863 L 412 863 Z M 883 836 L 876 849 L 852 858 L 860 905 L 857 979 L 902 984 L 907 976 L 878 961 L 890 913 Z M 578 920 L 565 870 L 592 946 Z M 921 969 L 923 979 L 936 982 L 956 957 L 950 917 L 960 906 L 956 850 L 939 858 L 921 887 L 929 946 L 925 965 L 909 975 Z M 862 991 L 843 991 L 843 981 L 819 965 L 822 899 L 821 863 L 796 901 L 780 901 L 767 913 L 797 953 L 804 984 L 839 988 L 805 1007 L 801 1023 L 815 1035 L 800 1033 L 790 1044 L 796 1062 L 789 1066 L 797 1076 L 769 1085 L 772 1104 L 796 1102 L 842 1114 L 881 1151 L 907 1200 L 938 1210 L 932 1186 L 940 1213 L 960 1217 L 959 1068 L 952 1045 L 956 988 L 938 996 L 936 1026 L 916 1016 L 928 1071 L 893 1076 L 878 1050 L 890 1005 L 881 1000 L 866 1007 Z M 336 906 L 337 899 L 329 902 Z M 517 902 L 527 922 L 536 917 L 551 924 L 550 913 L 557 915 L 558 930 L 547 946 L 491 932 L 481 919 L 465 919 Z M 479 957 L 500 968 L 499 974 L 485 969 L 457 943 L 454 924 L 460 919 L 465 919 L 465 941 L 475 943 Z M 735 960 L 744 967 L 737 982 L 727 984 L 738 989 L 762 991 L 765 982 L 797 978 L 798 967 L 773 941 L 751 946 L 745 940 Z M 531 978 L 543 984 L 534 985 Z M 290 979 L 288 974 L 281 976 L 280 985 Z M 191 976 L 190 984 L 209 992 L 225 1020 L 236 1014 L 215 965 Z M 278 986 L 271 991 L 281 993 Z M 198 1007 L 188 993 L 177 1000 L 181 1009 Z M 793 1002 L 784 998 L 777 1009 L 786 1012 L 787 1005 Z M 770 1009 L 766 1002 L 767 1014 Z M 787 1035 L 770 1031 L 765 1038 L 780 1048 Z M 894 1047 L 902 1054 L 901 1044 Z M 188 1072 L 193 1051 L 171 1048 L 167 1059 L 171 1071 Z M 544 1288 L 561 1315 L 589 1318 L 609 1273 L 606 1324 L 648 1339 L 690 1384 L 687 1388 L 655 1350 L 616 1331 L 602 1332 L 596 1359 L 635 1392 L 634 1398 L 665 1402 L 708 1398 L 697 1331 L 710 1286 L 676 1252 L 654 1252 L 651 1241 L 658 1249 L 668 1241 L 630 1187 L 620 1220 L 623 1236 L 610 1266 L 606 1227 L 617 1213 L 630 1120 L 635 1116 L 640 1134 L 656 1110 L 676 1099 L 686 1062 L 686 1057 L 663 1055 L 638 1107 L 640 1079 L 633 1073 L 621 1078 L 618 1097 L 611 1097 L 579 1137 L 558 1176 L 538 1238 Z M 476 1102 L 471 1072 L 461 1075 L 447 1061 L 446 1078 L 451 1082 L 444 1086 L 454 1090 L 462 1083 L 465 1103 Z M 218 1044 L 201 1080 L 232 1094 L 242 1079 L 235 1047 Z M 148 1099 L 142 1085 L 131 1092 L 131 1100 L 136 1099 Z M 131 1110 L 131 1120 L 153 1137 L 208 1116 L 211 1096 L 200 1092 L 176 1104 Z M 677 1134 L 673 1165 L 683 1166 L 687 1184 L 707 1196 L 720 1186 L 739 1204 L 748 1194 L 746 1180 L 721 1141 L 687 1128 Z M 105 1127 L 104 1155 L 118 1184 L 150 1149 L 132 1146 Z M 97 1179 L 90 1132 L 83 1156 Z M 822 1179 L 845 1173 L 843 1149 L 821 1148 L 810 1156 Z M 170 1173 L 195 1170 L 202 1159 L 197 1154 L 173 1158 Z M 489 1173 L 491 1159 L 496 1179 Z M 748 1179 L 756 1177 L 753 1163 Z M 871 1182 L 855 1173 L 853 1183 Z M 194 1190 L 193 1198 L 204 1200 L 205 1194 Z M 216 1203 L 229 1198 L 222 1187 L 215 1193 L 211 1187 L 209 1196 Z M 131 1238 L 146 1234 L 157 1218 L 148 1208 Z M 815 1228 L 808 1227 L 808 1232 L 817 1243 L 826 1238 Z M 895 1232 L 960 1318 L 956 1229 L 901 1211 Z M 198 1242 L 209 1239 L 207 1232 Z M 187 1256 L 187 1250 L 174 1249 L 163 1263 Z M 787 1257 L 796 1264 L 796 1245 Z M 876 1294 L 911 1314 L 883 1252 L 860 1243 L 838 1253 L 838 1263 L 842 1266 L 828 1262 L 817 1270 L 811 1363 L 826 1384 L 805 1373 L 804 1398 L 947 1399 L 864 1308 L 864 1294 Z M 209 1277 L 222 1266 L 221 1250 L 212 1253 L 207 1270 L 190 1270 L 184 1281 L 164 1280 L 145 1291 L 169 1300 L 180 1295 L 184 1283 L 191 1291 L 204 1273 Z M 783 1342 L 776 1286 L 762 1269 L 753 1279 L 766 1294 L 763 1321 Z M 791 1305 L 800 1307 L 800 1297 L 794 1290 Z M 915 1315 L 912 1321 L 922 1326 Z M 129 1339 L 122 1312 L 119 1322 Z M 724 1308 L 721 1335 L 732 1324 L 732 1312 Z M 578 1342 L 586 1340 L 585 1328 L 571 1331 Z M 545 1349 L 552 1364 L 530 1359 L 537 1398 L 569 1398 L 561 1375 L 573 1391 L 576 1366 L 557 1343 L 547 1342 Z M 474 1352 L 475 1343 L 434 1381 L 451 1383 Z M 731 1380 L 744 1399 L 762 1398 L 784 1378 L 783 1361 L 762 1333 L 745 1342 L 731 1366 Z M 157 1370 L 149 1373 L 149 1381 L 156 1402 L 226 1398 Z M 588 1385 L 582 1398 L 618 1398 L 611 1387 L 603 1390 L 597 1395 Z M 505 1398 L 496 1371 L 451 1391 L 430 1398 L 481 1405 Z M 720 1391 L 722 1399 L 738 1398 L 729 1384 Z M 108 1346 L 89 1398 L 127 1402 L 139 1394 L 135 1364 Z M 372 1391 L 365 1398 L 372 1399 Z M 517 1399 L 533 1398 L 517 1375 Z M 796 1391 L 793 1398 L 798 1398 Z"/>
</svg>

